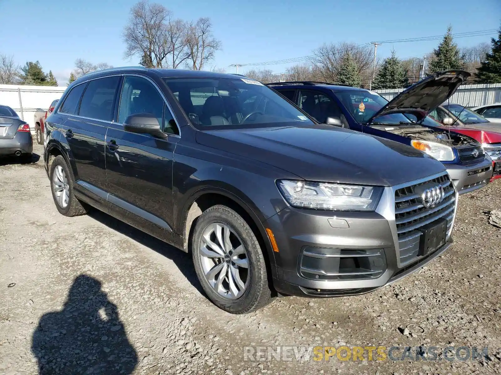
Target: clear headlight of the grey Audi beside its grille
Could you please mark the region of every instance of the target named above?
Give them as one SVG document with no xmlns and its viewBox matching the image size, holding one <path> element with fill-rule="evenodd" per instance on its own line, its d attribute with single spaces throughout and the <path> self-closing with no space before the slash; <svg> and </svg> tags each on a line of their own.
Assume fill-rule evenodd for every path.
<svg viewBox="0 0 501 375">
<path fill-rule="evenodd" d="M 279 180 L 278 187 L 290 205 L 340 211 L 374 211 L 383 187 L 329 182 Z"/>
</svg>

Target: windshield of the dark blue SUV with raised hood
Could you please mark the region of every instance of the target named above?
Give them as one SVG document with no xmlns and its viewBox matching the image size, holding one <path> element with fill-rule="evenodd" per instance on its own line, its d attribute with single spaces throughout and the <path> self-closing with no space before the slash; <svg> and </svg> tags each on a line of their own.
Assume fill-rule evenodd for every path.
<svg viewBox="0 0 501 375">
<path fill-rule="evenodd" d="M 359 123 L 366 123 L 379 109 L 388 104 L 384 97 L 366 90 L 336 91 L 335 94 Z M 376 117 L 372 123 L 376 122 L 394 125 L 410 121 L 402 113 L 391 113 Z"/>
</svg>

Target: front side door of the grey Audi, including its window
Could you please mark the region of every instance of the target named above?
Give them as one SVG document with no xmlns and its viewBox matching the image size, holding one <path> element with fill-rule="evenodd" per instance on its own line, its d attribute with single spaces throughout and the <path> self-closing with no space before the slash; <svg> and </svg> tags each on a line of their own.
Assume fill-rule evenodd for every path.
<svg viewBox="0 0 501 375">
<path fill-rule="evenodd" d="M 127 132 L 122 123 L 134 113 L 158 118 L 167 138 Z M 118 122 L 106 134 L 108 207 L 115 217 L 150 234 L 172 238 L 172 163 L 177 125 L 159 89 L 149 79 L 125 76 Z"/>
</svg>

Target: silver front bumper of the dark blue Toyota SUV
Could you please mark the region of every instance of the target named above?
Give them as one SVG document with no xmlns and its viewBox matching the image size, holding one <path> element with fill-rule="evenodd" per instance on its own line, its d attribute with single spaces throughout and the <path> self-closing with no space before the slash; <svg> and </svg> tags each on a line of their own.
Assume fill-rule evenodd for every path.
<svg viewBox="0 0 501 375">
<path fill-rule="evenodd" d="M 445 166 L 459 194 L 485 186 L 492 176 L 492 161 L 486 157 L 474 164 L 446 164 Z"/>
</svg>

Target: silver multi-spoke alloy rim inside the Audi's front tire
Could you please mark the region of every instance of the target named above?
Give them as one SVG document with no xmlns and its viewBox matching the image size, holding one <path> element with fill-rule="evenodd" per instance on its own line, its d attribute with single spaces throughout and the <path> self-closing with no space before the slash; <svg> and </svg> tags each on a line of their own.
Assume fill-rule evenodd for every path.
<svg viewBox="0 0 501 375">
<path fill-rule="evenodd" d="M 214 222 L 202 232 L 199 256 L 205 279 L 222 297 L 240 297 L 250 280 L 247 250 L 228 224 Z"/>
</svg>

